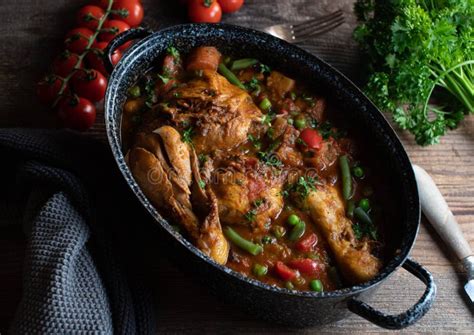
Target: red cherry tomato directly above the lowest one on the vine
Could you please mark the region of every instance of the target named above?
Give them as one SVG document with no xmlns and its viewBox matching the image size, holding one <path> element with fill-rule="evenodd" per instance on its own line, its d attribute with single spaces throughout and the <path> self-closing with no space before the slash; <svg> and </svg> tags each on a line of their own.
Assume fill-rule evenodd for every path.
<svg viewBox="0 0 474 335">
<path fill-rule="evenodd" d="M 78 71 L 72 76 L 72 87 L 81 97 L 97 102 L 104 98 L 107 79 L 96 70 Z"/>
</svg>

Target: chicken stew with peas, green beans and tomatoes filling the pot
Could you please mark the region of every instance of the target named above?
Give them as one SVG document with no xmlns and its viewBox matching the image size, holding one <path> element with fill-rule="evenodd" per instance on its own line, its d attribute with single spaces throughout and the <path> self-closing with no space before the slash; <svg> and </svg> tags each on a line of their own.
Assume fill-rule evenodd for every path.
<svg viewBox="0 0 474 335">
<path fill-rule="evenodd" d="M 252 58 L 169 47 L 129 90 L 126 160 L 150 202 L 217 263 L 290 290 L 335 290 L 383 264 L 360 143 L 307 87 Z"/>
</svg>

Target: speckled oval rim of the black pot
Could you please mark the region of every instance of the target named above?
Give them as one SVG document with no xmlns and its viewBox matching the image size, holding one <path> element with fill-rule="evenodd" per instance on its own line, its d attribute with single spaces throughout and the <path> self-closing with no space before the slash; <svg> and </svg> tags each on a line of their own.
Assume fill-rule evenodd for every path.
<svg viewBox="0 0 474 335">
<path fill-rule="evenodd" d="M 211 29 L 210 29 L 211 28 Z M 121 148 L 121 140 L 120 140 L 120 125 L 116 125 L 113 121 L 113 113 L 112 111 L 115 108 L 120 108 L 119 114 L 122 113 L 122 107 L 118 107 L 115 103 L 115 96 L 116 96 L 116 89 L 121 82 L 121 76 L 130 70 L 129 62 L 133 61 L 134 59 L 138 58 L 142 55 L 145 51 L 152 48 L 150 43 L 153 41 L 158 42 L 161 38 L 173 38 L 174 35 L 177 33 L 182 32 L 185 29 L 190 29 L 193 31 L 194 34 L 202 34 L 200 37 L 206 38 L 210 37 L 213 34 L 218 33 L 230 33 L 230 32 L 238 32 L 241 34 L 252 35 L 252 38 L 258 38 L 261 41 L 271 41 L 272 44 L 276 44 L 279 48 L 286 49 L 293 54 L 297 54 L 299 58 L 304 60 L 308 63 L 316 63 L 318 66 L 323 68 L 324 70 L 331 72 L 345 88 L 349 88 L 351 92 L 357 96 L 359 103 L 366 105 L 366 113 L 372 114 L 374 118 L 379 119 L 379 121 L 383 124 L 384 130 L 387 132 L 387 136 L 390 137 L 391 142 L 394 145 L 394 151 L 396 151 L 397 155 L 399 156 L 399 160 L 401 161 L 400 165 L 402 168 L 405 169 L 406 175 L 406 188 L 410 190 L 412 193 L 412 202 L 411 206 L 408 206 L 410 211 L 407 210 L 409 215 L 407 215 L 406 221 L 415 221 L 416 228 L 414 230 L 408 231 L 405 235 L 402 235 L 401 245 L 397 249 L 397 254 L 392 257 L 388 262 L 385 263 L 382 270 L 379 274 L 374 277 L 372 280 L 350 287 L 341 288 L 334 291 L 328 292 L 312 292 L 312 291 L 297 291 L 297 290 L 288 290 L 286 288 L 280 288 L 277 286 L 272 286 L 269 284 L 265 284 L 259 280 L 246 277 L 239 272 L 236 272 L 225 265 L 220 265 L 212 260 L 210 257 L 206 256 L 202 253 L 199 249 L 197 249 L 191 242 L 185 239 L 181 234 L 176 232 L 168 220 L 163 218 L 158 210 L 148 201 L 145 197 L 143 192 L 141 191 L 138 184 L 135 182 L 127 164 L 125 163 L 125 158 Z M 171 36 L 171 37 L 170 37 Z M 415 181 L 415 176 L 413 170 L 411 168 L 411 163 L 409 157 L 403 148 L 403 145 L 400 142 L 397 134 L 393 130 L 392 126 L 385 120 L 382 112 L 370 101 L 370 99 L 344 74 L 342 74 L 337 69 L 333 68 L 331 65 L 326 63 L 325 61 L 321 60 L 319 57 L 312 55 L 299 47 L 287 43 L 283 40 L 280 40 L 276 37 L 271 35 L 267 35 L 265 33 L 256 31 L 254 29 L 234 26 L 229 24 L 182 24 L 177 26 L 172 26 L 169 28 L 165 28 L 163 30 L 159 30 L 153 32 L 151 35 L 143 38 L 142 40 L 136 42 L 120 59 L 119 63 L 116 65 L 114 71 L 112 72 L 109 78 L 109 85 L 107 87 L 106 97 L 105 97 L 105 124 L 106 124 L 106 132 L 109 145 L 112 149 L 112 153 L 114 155 L 115 161 L 125 177 L 128 185 L 132 188 L 135 195 L 138 197 L 142 205 L 148 210 L 148 212 L 153 216 L 155 223 L 159 224 L 162 228 L 164 228 L 169 234 L 173 235 L 173 237 L 185 248 L 188 249 L 194 256 L 199 257 L 201 260 L 205 261 L 206 263 L 212 265 L 213 267 L 223 271 L 228 276 L 234 277 L 239 279 L 245 284 L 249 284 L 259 288 L 261 290 L 268 290 L 273 293 L 281 294 L 281 295 L 288 295 L 288 296 L 295 296 L 295 297 L 302 297 L 302 298 L 320 298 L 320 299 L 331 299 L 331 298 L 341 298 L 344 296 L 353 296 L 357 295 L 371 287 L 377 286 L 382 281 L 387 279 L 391 274 L 393 274 L 398 268 L 400 268 L 405 260 L 407 259 L 416 239 L 419 230 L 419 223 L 420 223 L 420 203 L 418 198 L 418 190 Z M 118 132 L 118 133 L 117 133 Z M 394 155 L 394 154 L 392 154 Z"/>
</svg>

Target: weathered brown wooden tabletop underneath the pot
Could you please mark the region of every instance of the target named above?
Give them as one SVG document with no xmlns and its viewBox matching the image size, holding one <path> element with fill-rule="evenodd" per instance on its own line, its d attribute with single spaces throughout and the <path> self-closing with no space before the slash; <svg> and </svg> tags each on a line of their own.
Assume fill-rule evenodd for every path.
<svg viewBox="0 0 474 335">
<path fill-rule="evenodd" d="M 155 29 L 184 22 L 185 15 L 176 1 L 144 0 L 145 23 Z M 0 126 L 53 127 L 54 116 L 38 107 L 34 83 L 60 50 L 60 41 L 72 27 L 74 11 L 79 6 L 66 0 L 0 2 Z M 83 3 L 81 1 L 80 3 Z M 263 27 L 275 22 L 300 21 L 343 8 L 346 23 L 337 30 L 314 39 L 313 49 L 352 78 L 357 76 L 358 53 L 351 39 L 355 25 L 351 0 L 247 0 L 242 11 L 224 18 L 225 22 L 249 27 Z M 99 118 L 100 120 L 100 118 Z M 100 122 L 91 131 L 103 136 Z M 412 138 L 399 132 L 413 161 L 435 179 L 474 246 L 474 118 L 469 117 L 458 130 L 450 132 L 440 145 L 417 146 Z M 7 329 L 21 288 L 21 261 L 24 242 L 14 230 L 0 230 L 0 333 Z M 472 333 L 473 308 L 463 298 L 463 276 L 455 258 L 440 238 L 423 220 L 411 257 L 434 275 L 438 296 L 434 307 L 415 326 L 412 333 Z M 150 257 L 143 276 L 153 285 L 156 315 L 160 332 L 256 332 L 286 333 L 285 329 L 254 320 L 251 316 L 225 305 L 205 288 L 185 278 L 165 257 Z M 397 313 L 412 305 L 421 295 L 423 285 L 399 270 L 387 280 L 370 303 L 384 311 Z M 310 312 L 310 311 L 309 311 Z M 337 324 L 301 333 L 383 332 L 376 326 L 351 316 Z"/>
</svg>

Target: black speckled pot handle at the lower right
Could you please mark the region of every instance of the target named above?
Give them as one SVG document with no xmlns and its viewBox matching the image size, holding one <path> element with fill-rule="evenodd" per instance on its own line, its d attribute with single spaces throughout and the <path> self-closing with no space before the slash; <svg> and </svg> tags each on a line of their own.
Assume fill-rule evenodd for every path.
<svg viewBox="0 0 474 335">
<path fill-rule="evenodd" d="M 436 296 L 436 284 L 428 270 L 409 258 L 406 259 L 403 268 L 426 284 L 425 293 L 410 309 L 398 315 L 387 315 L 375 310 L 365 302 L 352 298 L 347 305 L 349 310 L 387 329 L 402 329 L 421 319 L 433 305 Z"/>
</svg>

